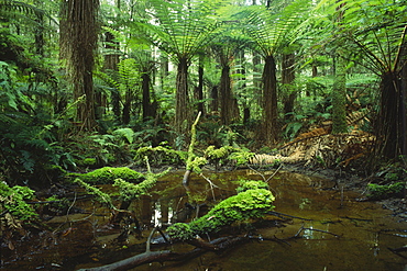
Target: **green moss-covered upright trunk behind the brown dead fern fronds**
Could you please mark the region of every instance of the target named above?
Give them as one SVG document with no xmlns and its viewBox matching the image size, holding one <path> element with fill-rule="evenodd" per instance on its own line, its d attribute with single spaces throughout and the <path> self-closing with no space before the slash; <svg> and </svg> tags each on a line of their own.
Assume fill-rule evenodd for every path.
<svg viewBox="0 0 407 271">
<path fill-rule="evenodd" d="M 333 88 L 332 88 L 332 134 L 348 132 L 346 124 L 346 67 L 341 57 L 333 58 Z"/>
</svg>

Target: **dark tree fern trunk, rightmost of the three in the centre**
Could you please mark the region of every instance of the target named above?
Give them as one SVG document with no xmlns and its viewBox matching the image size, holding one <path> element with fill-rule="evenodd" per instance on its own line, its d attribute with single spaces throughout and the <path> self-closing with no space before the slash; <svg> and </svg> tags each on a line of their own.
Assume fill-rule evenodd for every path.
<svg viewBox="0 0 407 271">
<path fill-rule="evenodd" d="M 267 56 L 263 70 L 263 138 L 267 145 L 277 140 L 277 79 L 276 63 L 273 56 Z"/>
</svg>

